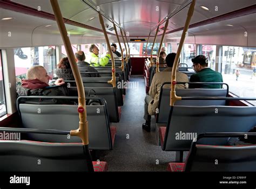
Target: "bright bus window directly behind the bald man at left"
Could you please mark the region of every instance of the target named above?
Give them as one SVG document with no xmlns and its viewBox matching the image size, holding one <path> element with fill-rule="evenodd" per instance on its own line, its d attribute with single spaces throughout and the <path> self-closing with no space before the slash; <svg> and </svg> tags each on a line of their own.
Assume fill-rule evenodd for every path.
<svg viewBox="0 0 256 189">
<path fill-rule="evenodd" d="M 26 71 L 35 65 L 44 66 L 48 75 L 53 77 L 56 69 L 55 46 L 36 46 L 34 48 L 14 49 L 15 75 L 17 84 L 21 84 L 21 79 L 26 78 Z"/>
</svg>

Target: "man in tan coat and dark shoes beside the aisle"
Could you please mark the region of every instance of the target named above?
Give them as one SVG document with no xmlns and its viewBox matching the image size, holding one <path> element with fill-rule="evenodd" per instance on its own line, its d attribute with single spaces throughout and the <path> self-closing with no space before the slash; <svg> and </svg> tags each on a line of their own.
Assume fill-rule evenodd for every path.
<svg viewBox="0 0 256 189">
<path fill-rule="evenodd" d="M 156 73 L 152 79 L 149 95 L 146 96 L 144 105 L 144 119 L 146 120 L 146 123 L 142 125 L 142 128 L 147 132 L 150 132 L 151 116 L 156 113 L 156 109 L 158 107 L 161 85 L 164 82 L 171 82 L 171 72 L 175 56 L 176 53 L 170 53 L 169 55 L 167 55 L 166 64 L 168 68 Z M 188 78 L 185 73 L 177 71 L 176 78 L 177 82 L 188 82 Z M 170 85 L 165 85 L 165 87 L 170 87 Z M 185 85 L 176 85 L 176 89 L 185 89 Z"/>
</svg>

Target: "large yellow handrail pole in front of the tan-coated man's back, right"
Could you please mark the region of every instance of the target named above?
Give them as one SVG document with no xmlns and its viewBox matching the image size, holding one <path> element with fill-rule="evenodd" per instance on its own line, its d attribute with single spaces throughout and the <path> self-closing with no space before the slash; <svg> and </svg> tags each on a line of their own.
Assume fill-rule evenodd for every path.
<svg viewBox="0 0 256 189">
<path fill-rule="evenodd" d="M 193 0 L 191 5 L 190 5 L 190 9 L 188 9 L 186 23 L 185 23 L 185 26 L 184 26 L 184 29 L 183 29 L 183 33 L 181 35 L 179 47 L 178 47 L 178 50 L 177 50 L 177 55 L 176 55 L 176 57 L 174 59 L 174 63 L 173 63 L 172 77 L 171 77 L 172 78 L 172 80 L 171 80 L 171 91 L 170 91 L 170 106 L 173 106 L 174 103 L 177 100 L 181 100 L 181 97 L 176 96 L 176 91 L 175 91 L 175 89 L 176 89 L 176 71 L 177 71 L 177 68 L 178 68 L 179 56 L 180 56 L 181 49 L 182 49 L 183 44 L 184 44 L 187 29 L 188 29 L 188 26 L 190 25 L 191 17 L 193 16 L 194 5 L 195 4 L 196 4 L 196 0 Z"/>
</svg>

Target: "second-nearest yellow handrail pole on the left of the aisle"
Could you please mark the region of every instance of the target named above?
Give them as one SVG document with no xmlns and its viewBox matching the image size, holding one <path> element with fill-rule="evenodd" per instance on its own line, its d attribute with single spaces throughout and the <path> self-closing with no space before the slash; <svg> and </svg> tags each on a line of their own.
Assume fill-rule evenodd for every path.
<svg viewBox="0 0 256 189">
<path fill-rule="evenodd" d="M 106 44 L 107 44 L 107 49 L 109 49 L 109 53 L 110 53 L 110 56 L 111 56 L 111 62 L 112 62 L 112 79 L 107 81 L 107 83 L 110 83 L 110 84 L 112 84 L 113 87 L 116 87 L 116 68 L 114 67 L 115 66 L 114 65 L 114 56 L 113 56 L 113 52 L 111 50 L 111 46 L 110 46 L 110 43 L 109 43 L 109 37 L 107 37 L 103 17 L 102 17 L 102 14 L 100 14 L 100 12 L 99 12 L 99 22 L 102 25 L 102 30 L 104 32 L 104 36 L 105 36 L 105 40 L 106 40 Z"/>
</svg>

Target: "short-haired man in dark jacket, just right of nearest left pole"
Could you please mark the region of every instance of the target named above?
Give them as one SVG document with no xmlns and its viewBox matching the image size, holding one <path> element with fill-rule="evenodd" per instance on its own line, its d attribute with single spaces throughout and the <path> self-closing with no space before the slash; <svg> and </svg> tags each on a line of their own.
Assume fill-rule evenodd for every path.
<svg viewBox="0 0 256 189">
<path fill-rule="evenodd" d="M 85 62 L 85 55 L 83 51 L 77 51 L 75 53 L 78 69 L 81 72 L 81 77 L 100 77 L 98 71 L 90 66 L 89 63 Z M 96 72 L 94 73 L 83 73 L 83 72 Z"/>
</svg>

